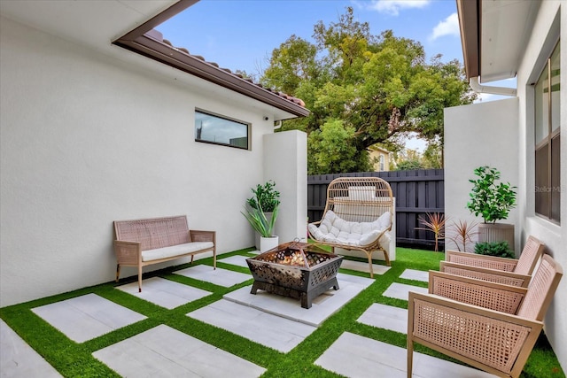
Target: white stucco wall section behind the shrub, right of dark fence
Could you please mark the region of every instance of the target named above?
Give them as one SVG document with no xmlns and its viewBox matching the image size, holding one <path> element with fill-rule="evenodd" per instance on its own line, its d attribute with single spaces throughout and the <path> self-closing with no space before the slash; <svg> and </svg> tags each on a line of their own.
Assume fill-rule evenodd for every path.
<svg viewBox="0 0 567 378">
<path fill-rule="evenodd" d="M 445 109 L 445 215 L 449 225 L 459 220 L 482 222 L 471 214 L 469 201 L 473 173 L 478 166 L 491 166 L 501 172 L 501 181 L 518 186 L 517 98 L 487 103 L 455 106 Z M 518 187 L 518 197 L 523 191 Z M 516 250 L 519 250 L 518 211 L 512 209 L 501 223 L 516 227 Z M 452 232 L 447 228 L 447 234 Z M 455 249 L 446 239 L 446 248 Z"/>
</svg>

